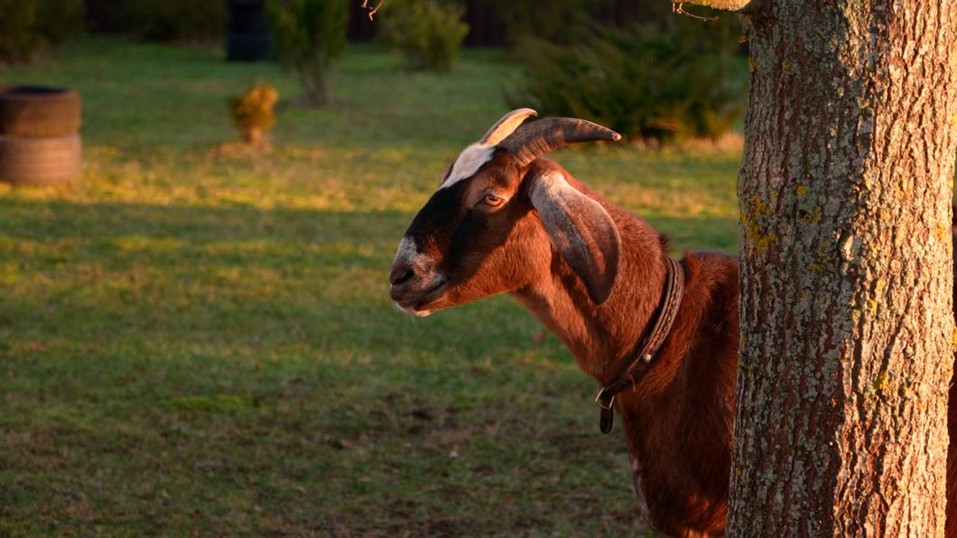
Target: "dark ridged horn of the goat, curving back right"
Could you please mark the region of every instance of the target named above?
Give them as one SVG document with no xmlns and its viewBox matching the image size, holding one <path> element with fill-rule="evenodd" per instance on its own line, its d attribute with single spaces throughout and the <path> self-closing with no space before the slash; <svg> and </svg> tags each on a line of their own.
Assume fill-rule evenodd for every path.
<svg viewBox="0 0 957 538">
<path fill-rule="evenodd" d="M 621 135 L 598 123 L 576 118 L 549 118 L 522 125 L 499 146 L 515 155 L 524 167 L 552 149 L 593 140 L 621 140 Z"/>
</svg>

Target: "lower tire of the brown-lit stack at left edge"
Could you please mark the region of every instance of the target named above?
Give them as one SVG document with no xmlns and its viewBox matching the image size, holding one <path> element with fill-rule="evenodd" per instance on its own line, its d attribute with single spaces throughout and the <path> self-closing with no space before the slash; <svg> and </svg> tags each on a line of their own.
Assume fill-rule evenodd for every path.
<svg viewBox="0 0 957 538">
<path fill-rule="evenodd" d="M 0 181 L 56 185 L 76 179 L 82 168 L 78 134 L 46 138 L 0 136 Z"/>
</svg>

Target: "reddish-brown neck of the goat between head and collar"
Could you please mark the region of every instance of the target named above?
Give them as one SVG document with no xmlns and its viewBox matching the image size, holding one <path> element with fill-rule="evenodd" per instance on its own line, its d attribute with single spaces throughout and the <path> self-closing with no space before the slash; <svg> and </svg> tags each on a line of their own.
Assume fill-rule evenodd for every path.
<svg viewBox="0 0 957 538">
<path fill-rule="evenodd" d="M 666 266 L 660 235 L 644 221 L 609 208 L 622 236 L 617 281 L 609 300 L 596 306 L 557 254 L 546 278 L 514 293 L 575 356 L 578 365 L 603 384 L 619 374 L 654 322 Z"/>
</svg>

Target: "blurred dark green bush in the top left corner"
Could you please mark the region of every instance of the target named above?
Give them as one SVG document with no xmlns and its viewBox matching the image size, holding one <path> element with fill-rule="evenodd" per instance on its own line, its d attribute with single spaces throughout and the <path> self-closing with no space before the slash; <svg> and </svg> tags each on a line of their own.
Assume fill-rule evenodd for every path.
<svg viewBox="0 0 957 538">
<path fill-rule="evenodd" d="M 27 61 L 81 34 L 82 0 L 0 0 L 0 63 Z"/>
</svg>

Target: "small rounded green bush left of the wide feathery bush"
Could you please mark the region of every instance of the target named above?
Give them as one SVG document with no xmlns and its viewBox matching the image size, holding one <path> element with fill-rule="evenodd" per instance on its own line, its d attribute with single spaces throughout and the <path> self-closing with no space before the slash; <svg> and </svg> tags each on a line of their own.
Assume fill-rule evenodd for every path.
<svg viewBox="0 0 957 538">
<path fill-rule="evenodd" d="M 411 56 L 417 68 L 452 69 L 469 33 L 464 8 L 437 0 L 389 0 L 387 6 L 380 19 L 387 41 Z"/>
</svg>

